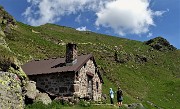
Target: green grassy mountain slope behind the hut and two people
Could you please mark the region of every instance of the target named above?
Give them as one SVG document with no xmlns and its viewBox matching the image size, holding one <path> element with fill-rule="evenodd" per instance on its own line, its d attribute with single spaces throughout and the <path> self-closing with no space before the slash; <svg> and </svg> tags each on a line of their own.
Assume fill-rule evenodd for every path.
<svg viewBox="0 0 180 109">
<path fill-rule="evenodd" d="M 180 51 L 160 52 L 142 42 L 96 34 L 79 32 L 72 28 L 46 24 L 31 27 L 17 23 L 18 28 L 6 36 L 6 42 L 23 63 L 32 59 L 62 57 L 64 43 L 78 44 L 79 54 L 92 53 L 100 68 L 104 69 L 104 93 L 110 87 L 120 86 L 125 93 L 125 103 L 147 101 L 162 108 L 180 108 Z M 120 58 L 127 55 L 126 63 L 117 63 L 114 53 Z M 138 63 L 136 55 L 148 61 Z M 138 98 L 138 99 L 137 99 Z"/>
</svg>

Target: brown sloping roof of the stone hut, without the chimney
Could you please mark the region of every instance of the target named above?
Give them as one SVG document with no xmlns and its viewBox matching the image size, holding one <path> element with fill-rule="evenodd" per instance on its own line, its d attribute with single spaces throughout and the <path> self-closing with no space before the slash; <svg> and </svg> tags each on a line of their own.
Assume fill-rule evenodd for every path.
<svg viewBox="0 0 180 109">
<path fill-rule="evenodd" d="M 77 63 L 72 66 L 65 65 L 65 58 L 33 60 L 24 64 L 22 66 L 22 69 L 27 75 L 38 75 L 38 74 L 60 73 L 60 72 L 77 72 L 90 58 L 92 58 L 94 61 L 94 57 L 92 56 L 92 54 L 78 56 Z"/>
</svg>

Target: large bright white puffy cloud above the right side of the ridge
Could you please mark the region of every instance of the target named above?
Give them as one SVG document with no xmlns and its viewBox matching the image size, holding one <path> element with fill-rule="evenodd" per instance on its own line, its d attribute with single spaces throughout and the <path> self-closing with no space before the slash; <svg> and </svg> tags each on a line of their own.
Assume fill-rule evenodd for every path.
<svg viewBox="0 0 180 109">
<path fill-rule="evenodd" d="M 143 34 L 155 26 L 154 16 L 164 11 L 152 11 L 149 0 L 113 0 L 97 12 L 97 26 L 110 27 L 119 35 Z"/>
</svg>

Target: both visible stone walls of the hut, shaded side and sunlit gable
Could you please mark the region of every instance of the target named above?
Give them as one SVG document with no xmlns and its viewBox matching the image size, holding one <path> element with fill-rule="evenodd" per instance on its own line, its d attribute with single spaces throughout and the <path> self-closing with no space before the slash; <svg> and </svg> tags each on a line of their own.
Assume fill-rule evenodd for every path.
<svg viewBox="0 0 180 109">
<path fill-rule="evenodd" d="M 96 72 L 94 62 L 90 59 L 80 71 L 62 72 L 46 75 L 30 76 L 36 82 L 36 86 L 49 93 L 59 96 L 73 96 L 80 98 L 88 97 L 88 75 L 92 77 L 93 100 L 101 99 L 102 83 Z"/>
</svg>

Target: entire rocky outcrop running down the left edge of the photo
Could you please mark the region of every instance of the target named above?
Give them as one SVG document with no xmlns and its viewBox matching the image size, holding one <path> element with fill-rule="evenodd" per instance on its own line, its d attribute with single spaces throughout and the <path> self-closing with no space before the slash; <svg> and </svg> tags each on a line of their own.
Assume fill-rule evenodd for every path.
<svg viewBox="0 0 180 109">
<path fill-rule="evenodd" d="M 27 76 L 16 54 L 8 47 L 5 37 L 11 34 L 16 21 L 0 7 L 0 108 L 23 109 Z"/>
</svg>

